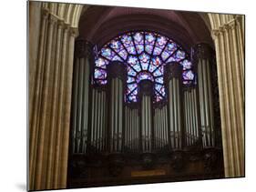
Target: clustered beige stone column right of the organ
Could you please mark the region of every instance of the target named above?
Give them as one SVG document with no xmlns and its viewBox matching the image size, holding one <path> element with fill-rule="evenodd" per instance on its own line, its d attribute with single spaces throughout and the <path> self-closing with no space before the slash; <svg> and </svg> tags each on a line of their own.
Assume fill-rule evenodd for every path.
<svg viewBox="0 0 256 192">
<path fill-rule="evenodd" d="M 244 28 L 238 15 L 212 30 L 220 86 L 225 177 L 244 176 Z"/>
</svg>

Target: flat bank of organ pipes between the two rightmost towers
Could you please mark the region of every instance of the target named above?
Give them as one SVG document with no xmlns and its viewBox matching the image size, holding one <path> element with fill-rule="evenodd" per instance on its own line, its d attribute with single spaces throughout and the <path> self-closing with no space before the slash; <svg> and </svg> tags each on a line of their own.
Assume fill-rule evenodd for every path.
<svg viewBox="0 0 256 192">
<path fill-rule="evenodd" d="M 186 144 L 188 147 L 195 144 L 200 145 L 200 116 L 198 113 L 197 90 L 194 85 L 183 87 L 183 108 Z"/>
</svg>

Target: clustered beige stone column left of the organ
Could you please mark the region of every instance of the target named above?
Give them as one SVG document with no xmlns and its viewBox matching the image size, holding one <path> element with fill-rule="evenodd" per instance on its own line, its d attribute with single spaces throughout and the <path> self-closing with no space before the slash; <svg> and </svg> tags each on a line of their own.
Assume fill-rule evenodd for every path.
<svg viewBox="0 0 256 192">
<path fill-rule="evenodd" d="M 77 28 L 42 9 L 29 111 L 29 189 L 65 188 L 74 41 Z"/>
</svg>

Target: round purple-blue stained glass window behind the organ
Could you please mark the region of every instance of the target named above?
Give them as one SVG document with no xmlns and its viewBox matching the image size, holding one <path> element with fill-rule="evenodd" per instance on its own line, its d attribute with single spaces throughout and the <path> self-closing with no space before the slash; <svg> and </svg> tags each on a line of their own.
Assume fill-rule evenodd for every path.
<svg viewBox="0 0 256 192">
<path fill-rule="evenodd" d="M 128 78 L 126 102 L 138 101 L 138 82 L 148 79 L 154 82 L 155 101 L 166 97 L 164 86 L 164 66 L 172 61 L 183 66 L 183 84 L 194 82 L 195 74 L 189 55 L 167 36 L 148 31 L 128 32 L 118 35 L 97 53 L 94 83 L 107 84 L 107 65 L 110 61 L 120 61 L 127 66 Z"/>
</svg>

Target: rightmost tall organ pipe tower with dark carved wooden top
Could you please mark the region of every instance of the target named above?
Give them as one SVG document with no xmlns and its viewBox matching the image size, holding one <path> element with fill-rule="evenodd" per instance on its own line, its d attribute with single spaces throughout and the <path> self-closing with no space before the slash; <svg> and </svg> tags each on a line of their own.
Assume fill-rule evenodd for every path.
<svg viewBox="0 0 256 192">
<path fill-rule="evenodd" d="M 198 69 L 200 99 L 200 126 L 203 147 L 215 146 L 215 127 L 212 96 L 212 63 L 210 45 L 198 44 L 193 47 L 193 57 Z"/>
</svg>

